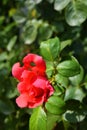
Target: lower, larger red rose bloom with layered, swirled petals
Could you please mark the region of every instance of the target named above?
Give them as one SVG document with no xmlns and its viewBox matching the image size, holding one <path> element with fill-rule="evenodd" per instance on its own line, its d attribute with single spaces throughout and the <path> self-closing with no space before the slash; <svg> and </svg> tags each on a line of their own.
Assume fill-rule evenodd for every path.
<svg viewBox="0 0 87 130">
<path fill-rule="evenodd" d="M 26 86 L 26 87 L 25 87 Z M 23 88 L 23 90 L 22 90 Z M 26 89 L 24 89 L 26 88 Z M 21 91 L 22 90 L 22 91 Z M 45 79 L 37 78 L 32 84 L 21 84 L 19 87 L 20 96 L 16 99 L 19 107 L 37 107 L 46 102 L 53 94 L 53 88 Z"/>
</svg>

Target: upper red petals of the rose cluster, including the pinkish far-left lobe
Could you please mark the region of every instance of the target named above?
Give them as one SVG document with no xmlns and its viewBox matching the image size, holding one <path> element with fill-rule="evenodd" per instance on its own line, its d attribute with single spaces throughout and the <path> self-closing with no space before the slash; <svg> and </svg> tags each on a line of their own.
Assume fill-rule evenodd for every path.
<svg viewBox="0 0 87 130">
<path fill-rule="evenodd" d="M 24 70 L 33 71 L 37 75 L 46 76 L 46 64 L 41 56 L 30 53 L 24 57 L 23 63 L 24 65 L 22 67 L 20 66 L 19 62 L 15 63 L 12 67 L 12 75 L 19 81 L 22 80 L 21 76 Z"/>
</svg>

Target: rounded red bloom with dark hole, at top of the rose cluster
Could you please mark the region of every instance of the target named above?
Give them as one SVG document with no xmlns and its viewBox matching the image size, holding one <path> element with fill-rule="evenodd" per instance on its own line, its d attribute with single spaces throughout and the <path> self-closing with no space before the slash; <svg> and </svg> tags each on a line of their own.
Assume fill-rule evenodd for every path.
<svg viewBox="0 0 87 130">
<path fill-rule="evenodd" d="M 24 57 L 23 63 L 25 68 L 36 72 L 38 75 L 43 75 L 46 71 L 46 64 L 41 56 L 28 54 Z"/>
</svg>

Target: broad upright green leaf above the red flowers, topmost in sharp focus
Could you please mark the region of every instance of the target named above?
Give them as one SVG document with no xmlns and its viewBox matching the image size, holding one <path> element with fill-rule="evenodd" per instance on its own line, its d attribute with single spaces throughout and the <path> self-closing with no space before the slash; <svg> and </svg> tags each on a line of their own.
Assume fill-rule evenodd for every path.
<svg viewBox="0 0 87 130">
<path fill-rule="evenodd" d="M 54 61 L 60 52 L 60 41 L 56 38 L 51 38 L 43 41 L 40 45 L 41 54 L 48 61 Z"/>
</svg>

